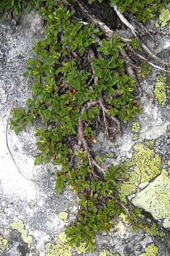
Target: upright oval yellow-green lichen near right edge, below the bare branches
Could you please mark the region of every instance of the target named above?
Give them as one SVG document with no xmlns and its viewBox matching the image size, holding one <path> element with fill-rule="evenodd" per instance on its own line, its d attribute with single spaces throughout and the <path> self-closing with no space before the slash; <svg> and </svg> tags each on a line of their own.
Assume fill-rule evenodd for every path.
<svg viewBox="0 0 170 256">
<path fill-rule="evenodd" d="M 167 101 L 167 88 L 168 85 L 166 84 L 167 78 L 164 76 L 158 76 L 156 79 L 154 94 L 156 101 L 158 101 L 158 104 L 164 108 L 165 103 Z"/>
</svg>

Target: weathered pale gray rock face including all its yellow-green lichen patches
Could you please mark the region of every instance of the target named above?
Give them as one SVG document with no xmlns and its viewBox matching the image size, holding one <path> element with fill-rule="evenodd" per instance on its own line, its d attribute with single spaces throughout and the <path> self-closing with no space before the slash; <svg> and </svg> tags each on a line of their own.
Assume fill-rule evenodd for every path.
<svg viewBox="0 0 170 256">
<path fill-rule="evenodd" d="M 153 28 L 154 23 L 148 26 Z M 169 24 L 164 31 L 168 29 Z M 53 180 L 56 167 L 53 164 L 33 166 L 33 156 L 36 155 L 33 129 L 27 127 L 18 137 L 8 130 L 6 138 L 11 102 L 14 101 L 15 107 L 24 107 L 27 93 L 22 73 L 25 72 L 27 58 L 31 56 L 33 42 L 42 36 L 41 20 L 37 15 L 24 15 L 18 26 L 10 22 L 0 24 L 0 255 L 4 256 L 85 255 L 84 246 L 79 250 L 71 248 L 63 233 L 63 226 L 76 216 L 76 196 L 69 190 L 61 196 L 55 195 Z M 149 40 L 148 46 L 170 60 L 167 53 L 169 35 L 158 35 L 156 39 L 157 48 L 154 49 L 153 42 Z M 106 158 L 105 162 L 116 164 L 124 161 L 128 164 L 128 181 L 120 184 L 120 197 L 123 201 L 131 200 L 153 218 L 148 214 L 150 225 L 133 233 L 125 217 L 120 216 L 109 236 L 96 236 L 95 253 L 86 255 L 170 255 L 169 77 L 163 79 L 167 86 L 165 97 L 160 97 L 164 104 L 160 106 L 154 94 L 157 75 L 164 76 L 152 69 L 152 75 L 141 82 L 143 113 L 135 118 L 135 123 L 125 124 L 122 136 L 114 142 L 109 142 L 100 131 L 97 143 L 92 146 L 95 154 L 113 153 L 113 158 Z M 30 84 L 28 81 L 28 94 Z M 35 126 L 40 125 L 39 121 L 35 122 Z M 7 150 L 6 139 L 19 170 Z"/>
</svg>

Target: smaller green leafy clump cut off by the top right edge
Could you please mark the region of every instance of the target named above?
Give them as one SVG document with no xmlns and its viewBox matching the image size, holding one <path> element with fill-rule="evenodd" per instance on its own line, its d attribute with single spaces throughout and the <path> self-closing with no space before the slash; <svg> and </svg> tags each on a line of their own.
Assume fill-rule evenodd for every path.
<svg viewBox="0 0 170 256">
<path fill-rule="evenodd" d="M 97 0 L 88 0 L 88 3 L 93 3 Z M 104 0 L 98 0 L 103 2 Z M 145 23 L 147 20 L 154 18 L 155 13 L 162 10 L 168 0 L 110 0 L 110 5 L 117 5 L 121 13 L 130 11 L 136 16 L 138 21 Z"/>
</svg>

